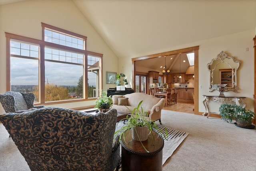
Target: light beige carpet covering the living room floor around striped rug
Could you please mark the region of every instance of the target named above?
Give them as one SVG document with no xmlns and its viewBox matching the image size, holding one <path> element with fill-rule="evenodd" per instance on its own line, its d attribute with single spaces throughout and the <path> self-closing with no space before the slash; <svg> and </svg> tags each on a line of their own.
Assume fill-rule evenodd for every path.
<svg viewBox="0 0 256 171">
<path fill-rule="evenodd" d="M 192 109 L 191 109 L 192 110 Z M 189 132 L 162 171 L 256 171 L 256 128 L 244 129 L 220 118 L 162 110 L 166 127 Z M 29 171 L 6 129 L 0 124 L 0 171 Z"/>
</svg>

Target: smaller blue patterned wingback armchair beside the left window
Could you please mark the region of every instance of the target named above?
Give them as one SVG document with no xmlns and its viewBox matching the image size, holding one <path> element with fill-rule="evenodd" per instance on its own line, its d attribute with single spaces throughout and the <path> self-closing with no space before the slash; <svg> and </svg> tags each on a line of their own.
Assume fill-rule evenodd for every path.
<svg viewBox="0 0 256 171">
<path fill-rule="evenodd" d="M 0 102 L 6 113 L 20 113 L 28 109 L 44 107 L 44 105 L 34 106 L 35 98 L 34 93 L 7 91 L 0 94 Z"/>
</svg>

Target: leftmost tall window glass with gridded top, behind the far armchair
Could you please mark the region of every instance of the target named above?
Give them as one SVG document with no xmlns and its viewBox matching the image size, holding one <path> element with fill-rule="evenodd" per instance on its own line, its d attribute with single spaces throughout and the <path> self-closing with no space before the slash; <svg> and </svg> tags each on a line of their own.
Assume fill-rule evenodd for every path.
<svg viewBox="0 0 256 171">
<path fill-rule="evenodd" d="M 26 58 L 24 58 L 24 56 L 26 56 Z M 27 57 L 34 57 L 37 59 L 27 59 Z M 38 57 L 39 46 L 12 40 L 10 41 L 11 91 L 35 93 L 35 102 L 39 102 Z"/>
</svg>

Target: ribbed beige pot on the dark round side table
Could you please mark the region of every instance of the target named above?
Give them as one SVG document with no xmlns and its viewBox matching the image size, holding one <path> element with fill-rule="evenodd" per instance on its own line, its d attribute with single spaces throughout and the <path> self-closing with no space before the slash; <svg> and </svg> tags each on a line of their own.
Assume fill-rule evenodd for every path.
<svg viewBox="0 0 256 171">
<path fill-rule="evenodd" d="M 135 141 L 146 141 L 148 139 L 148 127 L 133 127 L 132 139 Z"/>
</svg>

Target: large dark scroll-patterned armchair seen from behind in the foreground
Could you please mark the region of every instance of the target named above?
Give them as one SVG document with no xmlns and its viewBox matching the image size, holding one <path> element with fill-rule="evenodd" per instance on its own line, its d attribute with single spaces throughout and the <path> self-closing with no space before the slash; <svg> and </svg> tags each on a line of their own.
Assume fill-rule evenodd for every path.
<svg viewBox="0 0 256 171">
<path fill-rule="evenodd" d="M 116 119 L 116 109 L 93 115 L 46 107 L 0 115 L 31 171 L 113 171 L 120 158 Z"/>
</svg>

